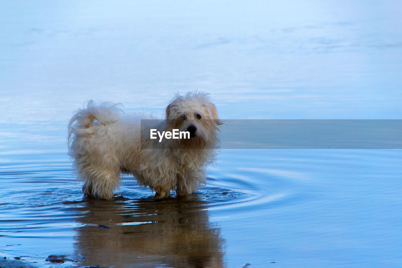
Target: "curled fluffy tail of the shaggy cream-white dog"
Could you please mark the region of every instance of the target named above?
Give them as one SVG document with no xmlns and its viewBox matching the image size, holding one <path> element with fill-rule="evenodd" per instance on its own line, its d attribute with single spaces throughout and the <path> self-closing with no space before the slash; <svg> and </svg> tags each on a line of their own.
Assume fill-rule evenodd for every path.
<svg viewBox="0 0 402 268">
<path fill-rule="evenodd" d="M 68 123 L 68 150 L 73 153 L 72 144 L 77 135 L 93 134 L 96 125 L 108 125 L 116 122 L 123 115 L 121 103 L 104 102 L 96 105 L 94 101 L 88 101 L 86 108 L 78 109 Z"/>
</svg>

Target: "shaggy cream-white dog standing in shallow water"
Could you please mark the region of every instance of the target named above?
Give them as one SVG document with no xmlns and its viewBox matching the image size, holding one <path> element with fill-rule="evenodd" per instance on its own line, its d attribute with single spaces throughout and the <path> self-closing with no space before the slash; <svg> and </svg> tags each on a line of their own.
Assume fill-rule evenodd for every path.
<svg viewBox="0 0 402 268">
<path fill-rule="evenodd" d="M 166 107 L 166 120 L 159 123 L 141 121 L 155 119 L 144 115 L 124 115 L 118 106 L 89 101 L 70 120 L 70 156 L 85 194 L 111 199 L 120 173 L 132 174 L 140 185 L 155 190 L 154 199 L 170 197 L 171 190 L 186 196 L 206 183 L 205 166 L 215 160 L 222 124 L 209 94 L 176 95 Z M 189 135 L 151 139 L 151 129 L 178 129 Z"/>
</svg>

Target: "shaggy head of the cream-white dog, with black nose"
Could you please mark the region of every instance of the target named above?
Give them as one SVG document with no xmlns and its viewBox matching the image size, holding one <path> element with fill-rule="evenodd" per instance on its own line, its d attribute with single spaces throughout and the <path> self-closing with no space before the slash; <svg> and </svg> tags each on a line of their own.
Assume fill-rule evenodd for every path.
<svg viewBox="0 0 402 268">
<path fill-rule="evenodd" d="M 176 95 L 166 107 L 167 128 L 189 132 L 189 139 L 179 139 L 181 146 L 199 149 L 217 145 L 219 120 L 208 93 L 189 92 Z M 209 146 L 208 146 L 209 145 Z"/>
</svg>

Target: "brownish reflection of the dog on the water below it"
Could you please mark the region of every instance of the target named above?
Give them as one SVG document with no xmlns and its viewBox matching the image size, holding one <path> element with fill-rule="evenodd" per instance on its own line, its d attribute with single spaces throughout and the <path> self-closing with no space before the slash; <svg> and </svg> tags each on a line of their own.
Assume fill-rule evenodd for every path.
<svg viewBox="0 0 402 268">
<path fill-rule="evenodd" d="M 75 238 L 83 266 L 223 267 L 220 229 L 197 196 L 161 201 L 88 199 Z M 96 227 L 104 225 L 110 227 Z"/>
</svg>

